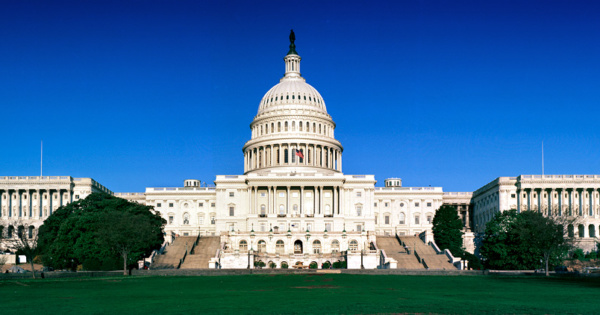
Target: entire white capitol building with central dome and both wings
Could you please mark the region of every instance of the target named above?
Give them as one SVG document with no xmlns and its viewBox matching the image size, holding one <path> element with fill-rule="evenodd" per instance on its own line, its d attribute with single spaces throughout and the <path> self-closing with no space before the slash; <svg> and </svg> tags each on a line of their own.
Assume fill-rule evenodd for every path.
<svg viewBox="0 0 600 315">
<path fill-rule="evenodd" d="M 444 192 L 442 187 L 403 187 L 400 178 L 376 187 L 374 175 L 344 174 L 336 124 L 325 100 L 301 74 L 294 39 L 292 33 L 283 77 L 260 100 L 250 124 L 240 155 L 243 174 L 217 175 L 211 187 L 186 179 L 182 187 L 114 193 L 152 206 L 167 221 L 171 250 L 167 246 L 166 252 L 178 252 L 179 246 L 187 255 L 175 267 L 251 268 L 263 262 L 301 268 L 345 262 L 348 268 L 367 269 L 461 268 L 459 258 L 433 242 L 432 220 L 442 205 L 457 208 L 470 252 L 485 223 L 509 209 L 581 216 L 575 237 L 588 250 L 595 246 L 599 175 L 500 177 L 475 192 Z M 19 219 L 35 230 L 58 206 L 95 191 L 113 194 L 89 178 L 0 176 L 2 219 Z M 9 226 L 3 233 L 18 228 Z M 192 254 L 193 247 L 204 253 L 202 258 Z M 428 250 L 438 257 L 428 256 Z"/>
</svg>

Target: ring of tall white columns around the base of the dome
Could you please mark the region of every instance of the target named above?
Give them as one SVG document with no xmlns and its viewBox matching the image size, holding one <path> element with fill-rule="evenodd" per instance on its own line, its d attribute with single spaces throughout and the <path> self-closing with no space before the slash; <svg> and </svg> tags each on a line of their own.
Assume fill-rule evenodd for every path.
<svg viewBox="0 0 600 315">
<path fill-rule="evenodd" d="M 249 148 L 244 152 L 246 172 L 264 167 L 295 165 L 341 171 L 342 152 L 337 147 L 308 143 L 269 144 Z"/>
</svg>

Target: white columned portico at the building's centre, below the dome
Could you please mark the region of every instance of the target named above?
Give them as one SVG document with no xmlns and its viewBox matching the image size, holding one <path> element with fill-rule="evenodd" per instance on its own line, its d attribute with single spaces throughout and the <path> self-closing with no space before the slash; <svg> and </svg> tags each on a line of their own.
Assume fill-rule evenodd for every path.
<svg viewBox="0 0 600 315">
<path fill-rule="evenodd" d="M 285 189 L 285 202 L 283 209 L 277 206 L 277 192 Z M 298 203 L 292 203 L 291 194 L 299 193 Z M 310 197 L 306 196 L 311 192 Z M 324 200 L 324 195 L 332 193 L 332 202 L 329 204 Z M 265 193 L 264 197 L 259 194 Z M 259 202 L 260 201 L 260 202 Z M 277 215 L 279 217 L 333 217 L 342 214 L 344 207 L 344 189 L 340 186 L 249 186 L 248 204 L 250 214 L 267 217 Z M 281 204 L 280 204 L 281 205 Z M 327 206 L 331 206 L 327 208 Z"/>
</svg>

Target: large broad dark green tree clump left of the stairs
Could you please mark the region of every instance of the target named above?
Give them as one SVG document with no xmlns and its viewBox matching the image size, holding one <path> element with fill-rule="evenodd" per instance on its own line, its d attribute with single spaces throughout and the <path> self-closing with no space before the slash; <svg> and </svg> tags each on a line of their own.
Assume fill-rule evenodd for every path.
<svg viewBox="0 0 600 315">
<path fill-rule="evenodd" d="M 123 261 L 126 269 L 160 248 L 165 223 L 152 207 L 93 193 L 60 207 L 44 221 L 39 229 L 42 260 L 55 269 L 73 270 L 79 265 L 87 270 L 114 270 Z M 125 244 L 124 238 L 131 242 Z"/>
</svg>

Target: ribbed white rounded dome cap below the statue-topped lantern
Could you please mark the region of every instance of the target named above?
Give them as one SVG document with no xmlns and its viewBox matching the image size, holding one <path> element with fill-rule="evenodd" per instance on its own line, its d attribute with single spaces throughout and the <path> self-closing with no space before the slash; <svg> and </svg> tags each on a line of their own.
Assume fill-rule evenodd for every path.
<svg viewBox="0 0 600 315">
<path fill-rule="evenodd" d="M 282 109 L 309 109 L 327 114 L 325 101 L 319 92 L 303 78 L 281 79 L 260 101 L 258 114 Z"/>
</svg>

